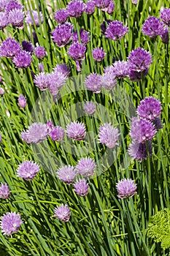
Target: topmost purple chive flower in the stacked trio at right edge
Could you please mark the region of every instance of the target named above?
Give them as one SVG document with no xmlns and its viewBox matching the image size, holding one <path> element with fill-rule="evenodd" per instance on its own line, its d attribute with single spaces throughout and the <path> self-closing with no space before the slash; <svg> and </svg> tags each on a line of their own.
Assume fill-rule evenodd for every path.
<svg viewBox="0 0 170 256">
<path fill-rule="evenodd" d="M 161 102 L 154 97 L 145 97 L 140 102 L 136 113 L 140 118 L 146 118 L 152 121 L 161 115 Z"/>
</svg>

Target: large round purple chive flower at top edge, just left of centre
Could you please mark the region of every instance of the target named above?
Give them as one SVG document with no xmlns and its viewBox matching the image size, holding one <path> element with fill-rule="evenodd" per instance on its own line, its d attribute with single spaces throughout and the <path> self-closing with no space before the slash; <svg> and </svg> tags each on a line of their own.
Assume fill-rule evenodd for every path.
<svg viewBox="0 0 170 256">
<path fill-rule="evenodd" d="M 85 10 L 85 4 L 81 0 L 70 1 L 66 7 L 69 17 L 78 18 Z"/>
</svg>

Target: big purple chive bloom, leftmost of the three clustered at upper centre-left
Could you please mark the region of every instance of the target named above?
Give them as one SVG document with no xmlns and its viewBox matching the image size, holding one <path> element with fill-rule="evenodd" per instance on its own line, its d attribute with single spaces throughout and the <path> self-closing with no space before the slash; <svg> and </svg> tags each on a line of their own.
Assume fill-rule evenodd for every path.
<svg viewBox="0 0 170 256">
<path fill-rule="evenodd" d="M 73 25 L 69 22 L 59 24 L 51 31 L 53 42 L 56 42 L 58 47 L 67 45 L 72 37 Z"/>
</svg>

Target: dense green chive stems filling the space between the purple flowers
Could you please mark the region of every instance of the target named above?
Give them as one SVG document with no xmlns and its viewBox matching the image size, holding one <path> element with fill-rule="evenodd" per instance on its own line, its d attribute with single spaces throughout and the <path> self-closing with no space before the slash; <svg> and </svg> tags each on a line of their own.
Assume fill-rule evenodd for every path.
<svg viewBox="0 0 170 256">
<path fill-rule="evenodd" d="M 91 16 L 84 13 L 81 18 L 69 19 L 75 29 L 83 27 L 90 32 L 80 74 L 66 54 L 68 46 L 57 48 L 50 37 L 50 31 L 57 25 L 53 12 L 66 7 L 67 1 L 37 0 L 23 1 L 22 4 L 25 11 L 41 6 L 45 21 L 34 29 L 39 45 L 47 50 L 42 61 L 45 72 L 51 72 L 56 64 L 65 62 L 71 67 L 73 78 L 68 79 L 58 99 L 53 100 L 48 92 L 42 93 L 34 86 L 31 70 L 39 73 L 35 57 L 28 69 L 15 69 L 10 59 L 1 58 L 5 94 L 0 99 L 0 181 L 9 185 L 11 195 L 7 200 L 0 200 L 0 216 L 7 211 L 17 211 L 23 224 L 12 237 L 0 233 L 0 255 L 169 255 L 169 249 L 161 249 L 160 244 L 155 244 L 146 235 L 150 217 L 169 208 L 169 45 L 164 45 L 159 37 L 154 41 L 141 32 L 144 20 L 150 15 L 159 17 L 161 7 L 169 7 L 169 1 L 139 0 L 139 4 L 134 5 L 131 1 L 115 0 L 112 15 L 96 9 Z M 106 19 L 121 20 L 128 26 L 128 34 L 120 42 L 105 39 L 101 34 L 100 25 Z M 7 37 L 15 37 L 20 42 L 28 40 L 30 29 L 31 26 L 23 29 L 8 26 L 0 31 L 1 41 Z M 96 64 L 91 50 L 101 46 L 107 56 L 101 64 Z M 128 79 L 117 81 L 113 91 L 103 90 L 97 95 L 85 90 L 85 75 L 90 72 L 102 74 L 104 67 L 117 58 L 126 60 L 130 51 L 139 46 L 152 54 L 153 62 L 147 77 L 139 83 Z M 18 107 L 20 94 L 27 99 L 25 109 Z M 139 163 L 127 155 L 128 132 L 136 106 L 145 96 L 156 97 L 162 102 L 164 126 L 153 140 L 152 157 Z M 96 102 L 94 117 L 85 116 L 82 111 L 83 103 L 89 99 Z M 36 146 L 21 140 L 20 132 L 28 125 L 49 119 L 63 128 L 70 121 L 83 121 L 88 131 L 87 140 L 72 143 L 65 138 L 66 141 L 59 144 L 48 139 Z M 98 127 L 106 121 L 120 129 L 117 151 L 96 143 Z M 66 186 L 58 180 L 55 171 L 63 164 L 76 165 L 82 156 L 87 155 L 97 163 L 96 176 L 89 180 L 89 194 L 78 197 L 72 185 Z M 41 166 L 33 181 L 16 177 L 18 165 L 27 159 Z M 115 184 L 121 178 L 135 180 L 137 194 L 134 197 L 127 200 L 117 198 Z M 72 211 L 68 223 L 52 217 L 54 208 L 61 203 L 67 203 Z"/>
</svg>

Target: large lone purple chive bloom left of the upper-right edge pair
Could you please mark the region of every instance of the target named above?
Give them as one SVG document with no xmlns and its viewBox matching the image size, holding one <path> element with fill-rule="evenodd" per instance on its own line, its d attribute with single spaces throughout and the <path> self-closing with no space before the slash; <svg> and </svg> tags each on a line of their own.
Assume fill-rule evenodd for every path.
<svg viewBox="0 0 170 256">
<path fill-rule="evenodd" d="M 121 39 L 126 33 L 128 33 L 128 28 L 123 26 L 123 23 L 118 20 L 110 22 L 105 31 L 106 37 L 115 41 Z"/>
</svg>

